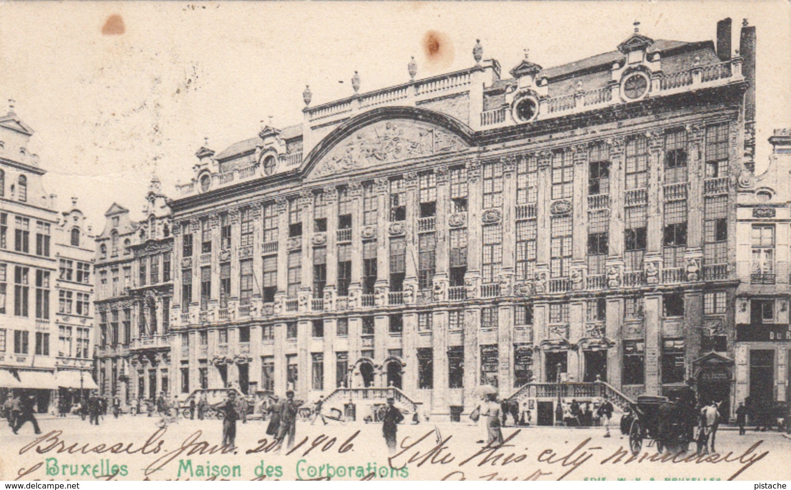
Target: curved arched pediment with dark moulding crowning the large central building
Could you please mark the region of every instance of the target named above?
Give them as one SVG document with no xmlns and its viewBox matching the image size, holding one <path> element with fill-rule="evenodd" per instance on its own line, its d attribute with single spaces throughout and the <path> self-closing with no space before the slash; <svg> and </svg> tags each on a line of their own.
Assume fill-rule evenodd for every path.
<svg viewBox="0 0 791 490">
<path fill-rule="evenodd" d="M 335 128 L 308 154 L 308 178 L 324 178 L 467 150 L 469 127 L 418 108 L 380 108 Z"/>
</svg>

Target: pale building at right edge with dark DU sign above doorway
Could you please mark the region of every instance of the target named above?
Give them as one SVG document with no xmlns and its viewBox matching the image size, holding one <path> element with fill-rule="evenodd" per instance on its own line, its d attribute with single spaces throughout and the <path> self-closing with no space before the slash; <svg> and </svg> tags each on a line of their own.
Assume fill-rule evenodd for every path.
<svg viewBox="0 0 791 490">
<path fill-rule="evenodd" d="M 769 139 L 774 152 L 761 175 L 739 178 L 736 242 L 736 402 L 756 408 L 791 402 L 789 329 L 789 169 L 791 131 L 778 129 Z M 704 325 L 725 335 L 724 325 Z M 714 359 L 710 356 L 710 362 Z M 725 371 L 713 371 L 725 377 Z"/>
</svg>

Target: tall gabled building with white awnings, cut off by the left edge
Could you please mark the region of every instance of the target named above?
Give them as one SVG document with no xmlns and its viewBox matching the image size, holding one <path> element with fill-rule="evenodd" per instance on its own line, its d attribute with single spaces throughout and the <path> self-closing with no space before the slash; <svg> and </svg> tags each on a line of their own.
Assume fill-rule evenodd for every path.
<svg viewBox="0 0 791 490">
<path fill-rule="evenodd" d="M 14 112 L 0 117 L 0 392 L 32 389 L 46 412 L 54 398 L 58 352 L 50 307 L 58 263 L 52 234 L 55 196 L 46 170 L 28 151 L 33 131 Z"/>
</svg>

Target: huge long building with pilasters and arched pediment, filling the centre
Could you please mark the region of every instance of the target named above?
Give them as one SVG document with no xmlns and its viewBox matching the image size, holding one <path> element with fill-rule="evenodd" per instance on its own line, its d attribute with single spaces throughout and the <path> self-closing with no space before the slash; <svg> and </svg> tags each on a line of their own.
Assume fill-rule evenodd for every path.
<svg viewBox="0 0 791 490">
<path fill-rule="evenodd" d="M 203 146 L 172 203 L 181 393 L 329 406 L 337 387 L 394 386 L 459 420 L 481 385 L 522 401 L 558 375 L 630 395 L 698 376 L 731 411 L 755 31 L 740 52 L 729 19 L 717 32 L 715 47 L 635 28 L 509 74 L 476 44 L 465 70 L 420 79 L 413 61 L 371 92 L 355 73 L 318 105 L 306 87 L 300 125 Z M 711 353 L 722 378 L 702 374 Z M 532 408 L 552 423 L 551 397 Z"/>
</svg>

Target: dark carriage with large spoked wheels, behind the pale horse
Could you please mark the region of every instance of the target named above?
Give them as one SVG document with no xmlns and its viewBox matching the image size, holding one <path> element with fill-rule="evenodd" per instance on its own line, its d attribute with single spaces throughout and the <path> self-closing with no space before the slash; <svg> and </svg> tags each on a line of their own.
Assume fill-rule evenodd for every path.
<svg viewBox="0 0 791 490">
<path fill-rule="evenodd" d="M 668 397 L 642 395 L 637 403 L 630 403 L 630 413 L 621 422 L 622 431 L 628 427 L 629 447 L 633 454 L 642 450 L 643 439 L 649 446 L 656 443 L 657 451 L 685 450 L 691 442 L 690 410 Z"/>
</svg>

